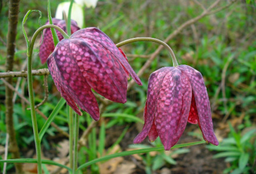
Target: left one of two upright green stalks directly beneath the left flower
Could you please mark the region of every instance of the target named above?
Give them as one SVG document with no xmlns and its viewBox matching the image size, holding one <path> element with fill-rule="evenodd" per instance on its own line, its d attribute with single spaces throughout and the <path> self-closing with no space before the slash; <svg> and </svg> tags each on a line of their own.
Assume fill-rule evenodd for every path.
<svg viewBox="0 0 256 174">
<path fill-rule="evenodd" d="M 73 121 L 73 112 L 72 108 L 67 106 L 67 115 L 69 116 L 69 164 L 70 168 L 73 169 L 73 139 L 74 139 L 74 121 Z"/>
</svg>

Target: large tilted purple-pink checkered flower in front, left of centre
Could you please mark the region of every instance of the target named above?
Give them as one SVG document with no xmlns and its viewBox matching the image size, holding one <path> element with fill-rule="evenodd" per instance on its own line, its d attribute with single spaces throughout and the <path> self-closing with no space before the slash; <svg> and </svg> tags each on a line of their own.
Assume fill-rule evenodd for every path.
<svg viewBox="0 0 256 174">
<path fill-rule="evenodd" d="M 113 102 L 125 103 L 128 72 L 138 85 L 140 79 L 116 45 L 98 28 L 84 28 L 62 39 L 47 64 L 56 88 L 70 107 L 99 119 L 97 100 L 91 88 Z"/>
</svg>

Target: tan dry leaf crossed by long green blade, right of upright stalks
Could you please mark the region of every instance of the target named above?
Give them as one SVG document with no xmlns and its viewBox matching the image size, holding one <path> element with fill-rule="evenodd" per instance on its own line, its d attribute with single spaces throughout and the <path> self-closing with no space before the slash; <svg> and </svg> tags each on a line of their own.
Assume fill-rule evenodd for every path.
<svg viewBox="0 0 256 174">
<path fill-rule="evenodd" d="M 110 152 L 110 154 L 115 154 L 120 152 L 120 146 L 116 145 Z M 104 155 L 105 155 L 105 151 L 104 151 Z M 108 160 L 104 163 L 99 162 L 99 172 L 101 174 L 111 174 L 113 172 L 116 171 L 116 168 L 118 168 L 118 165 L 123 161 L 123 157 L 117 157 L 117 158 L 112 158 L 111 160 Z"/>
</svg>

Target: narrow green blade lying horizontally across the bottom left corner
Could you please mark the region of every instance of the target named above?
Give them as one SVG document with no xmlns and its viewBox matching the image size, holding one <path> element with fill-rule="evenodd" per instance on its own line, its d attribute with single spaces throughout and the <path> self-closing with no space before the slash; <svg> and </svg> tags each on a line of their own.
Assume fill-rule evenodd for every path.
<svg viewBox="0 0 256 174">
<path fill-rule="evenodd" d="M 12 160 L 0 160 L 0 162 L 9 162 L 9 163 L 37 163 L 37 159 L 32 158 L 19 158 L 19 159 L 12 159 Z M 68 166 L 65 166 L 63 164 L 59 164 L 58 162 L 51 161 L 51 160 L 42 160 L 42 164 L 49 164 L 49 165 L 55 165 L 60 166 L 62 168 L 65 168 L 72 171 Z"/>
</svg>

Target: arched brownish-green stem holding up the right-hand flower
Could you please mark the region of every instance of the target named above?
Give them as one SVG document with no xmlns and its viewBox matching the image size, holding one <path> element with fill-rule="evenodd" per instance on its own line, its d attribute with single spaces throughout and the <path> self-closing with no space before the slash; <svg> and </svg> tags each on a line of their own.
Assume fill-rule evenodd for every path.
<svg viewBox="0 0 256 174">
<path fill-rule="evenodd" d="M 150 41 L 150 42 L 157 42 L 158 44 L 161 44 L 163 46 L 165 46 L 166 49 L 169 50 L 170 56 L 172 57 L 172 63 L 173 63 L 173 67 L 177 67 L 179 66 L 179 64 L 177 63 L 176 57 L 173 53 L 173 50 L 170 48 L 170 46 L 168 44 L 166 44 L 165 42 L 156 39 L 156 38 L 131 38 L 131 39 L 127 39 L 125 41 L 122 41 L 118 44 L 116 44 L 117 47 L 123 46 L 123 45 L 127 45 L 127 44 L 131 44 L 133 42 L 138 42 L 138 41 Z"/>
</svg>

